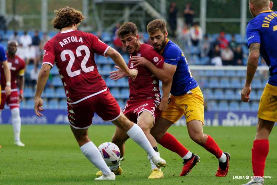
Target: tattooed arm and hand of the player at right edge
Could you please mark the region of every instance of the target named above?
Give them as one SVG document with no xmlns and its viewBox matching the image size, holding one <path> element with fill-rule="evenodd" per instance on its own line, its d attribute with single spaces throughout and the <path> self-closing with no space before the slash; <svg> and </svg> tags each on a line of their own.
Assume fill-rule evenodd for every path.
<svg viewBox="0 0 277 185">
<path fill-rule="evenodd" d="M 258 61 L 260 57 L 260 44 L 252 43 L 249 46 L 249 56 L 247 61 L 246 80 L 243 90 L 241 91 L 241 100 L 248 102 L 250 99 L 251 82 L 258 67 Z"/>
</svg>

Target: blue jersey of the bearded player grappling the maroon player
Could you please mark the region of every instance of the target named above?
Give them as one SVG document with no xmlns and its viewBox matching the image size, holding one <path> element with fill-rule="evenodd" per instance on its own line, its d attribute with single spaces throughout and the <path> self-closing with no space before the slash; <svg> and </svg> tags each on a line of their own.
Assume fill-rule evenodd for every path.
<svg viewBox="0 0 277 185">
<path fill-rule="evenodd" d="M 191 75 L 187 59 L 177 44 L 167 39 L 161 54 L 164 57 L 165 63 L 177 66 L 170 91 L 172 95 L 179 96 L 186 94 L 189 90 L 198 86 Z"/>
</svg>

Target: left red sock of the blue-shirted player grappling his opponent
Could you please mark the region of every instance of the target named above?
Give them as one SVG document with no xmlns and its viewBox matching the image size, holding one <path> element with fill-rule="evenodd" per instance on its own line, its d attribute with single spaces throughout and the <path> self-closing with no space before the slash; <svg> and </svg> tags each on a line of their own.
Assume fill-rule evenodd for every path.
<svg viewBox="0 0 277 185">
<path fill-rule="evenodd" d="M 168 132 L 165 133 L 164 137 L 158 142 L 164 148 L 171 150 L 172 152 L 177 153 L 180 157 L 184 157 L 189 150 L 185 148 L 173 135 L 169 134 Z"/>
</svg>

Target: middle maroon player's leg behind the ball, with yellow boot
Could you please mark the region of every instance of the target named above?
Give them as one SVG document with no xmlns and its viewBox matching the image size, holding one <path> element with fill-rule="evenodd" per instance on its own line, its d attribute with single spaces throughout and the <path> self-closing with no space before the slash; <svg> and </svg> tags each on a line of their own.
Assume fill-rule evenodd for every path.
<svg viewBox="0 0 277 185">
<path fill-rule="evenodd" d="M 116 127 L 116 132 L 114 133 L 112 137 L 112 143 L 116 144 L 120 150 L 120 159 L 117 163 L 114 165 L 110 166 L 110 170 L 115 174 L 115 175 L 121 175 L 122 173 L 122 168 L 120 167 L 120 162 L 124 156 L 125 152 L 125 141 L 128 140 L 129 136 L 124 132 L 122 129 Z M 103 173 L 102 171 L 98 171 L 96 173 L 97 176 L 101 176 Z"/>
</svg>

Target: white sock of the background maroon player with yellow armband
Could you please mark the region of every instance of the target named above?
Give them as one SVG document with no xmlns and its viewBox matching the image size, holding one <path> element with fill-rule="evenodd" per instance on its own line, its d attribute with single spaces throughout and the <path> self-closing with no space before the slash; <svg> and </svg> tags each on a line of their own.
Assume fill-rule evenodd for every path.
<svg viewBox="0 0 277 185">
<path fill-rule="evenodd" d="M 20 141 L 21 118 L 18 107 L 11 109 L 11 123 L 14 127 L 14 141 Z"/>
</svg>

